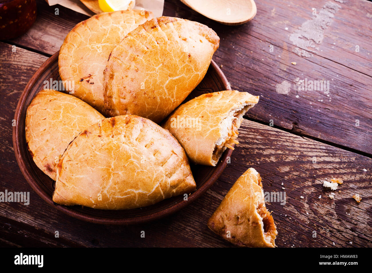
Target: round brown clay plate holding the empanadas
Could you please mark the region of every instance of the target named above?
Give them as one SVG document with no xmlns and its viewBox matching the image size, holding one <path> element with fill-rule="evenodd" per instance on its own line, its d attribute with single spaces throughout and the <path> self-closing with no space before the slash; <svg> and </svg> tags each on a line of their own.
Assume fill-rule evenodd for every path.
<svg viewBox="0 0 372 273">
<path fill-rule="evenodd" d="M 59 52 L 51 56 L 38 71 L 36 71 L 26 85 L 16 108 L 14 117 L 16 126 L 13 127 L 13 147 L 19 168 L 33 190 L 49 205 L 54 206 L 58 211 L 64 212 L 72 217 L 97 224 L 139 224 L 165 217 L 185 207 L 206 192 L 221 175 L 227 165 L 227 157 L 231 156 L 231 149 L 225 151 L 215 167 L 202 165 L 191 166 L 196 182 L 196 190 L 188 197 L 187 201 L 184 201 L 183 195 L 180 195 L 144 208 L 112 211 L 77 205 L 64 206 L 55 204 L 52 201 L 55 182 L 35 165 L 29 153 L 25 137 L 25 118 L 28 105 L 31 103 L 32 98 L 44 88 L 44 81 L 50 81 L 50 79 L 53 81 L 61 80 L 58 73 L 58 54 Z M 204 93 L 221 90 L 231 90 L 231 88 L 221 69 L 212 61 L 202 82 L 192 91 L 185 101 Z M 58 211 L 56 212 L 58 213 Z"/>
</svg>

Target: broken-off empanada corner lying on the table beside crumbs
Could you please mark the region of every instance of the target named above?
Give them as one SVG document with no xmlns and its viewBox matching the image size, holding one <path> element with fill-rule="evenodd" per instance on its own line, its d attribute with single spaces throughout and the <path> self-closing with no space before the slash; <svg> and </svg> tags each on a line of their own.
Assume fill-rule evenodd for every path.
<svg viewBox="0 0 372 273">
<path fill-rule="evenodd" d="M 208 227 L 236 246 L 275 247 L 278 232 L 265 207 L 261 177 L 255 169 L 249 168 L 232 185 Z"/>
</svg>

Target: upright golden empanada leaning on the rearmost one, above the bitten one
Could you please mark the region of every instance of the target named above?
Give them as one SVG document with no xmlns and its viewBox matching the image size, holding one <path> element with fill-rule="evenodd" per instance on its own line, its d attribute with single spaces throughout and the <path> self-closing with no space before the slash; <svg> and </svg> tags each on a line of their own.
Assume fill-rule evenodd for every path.
<svg viewBox="0 0 372 273">
<path fill-rule="evenodd" d="M 130 32 L 104 72 L 105 114 L 159 123 L 201 82 L 219 37 L 198 22 L 158 17 Z"/>
</svg>

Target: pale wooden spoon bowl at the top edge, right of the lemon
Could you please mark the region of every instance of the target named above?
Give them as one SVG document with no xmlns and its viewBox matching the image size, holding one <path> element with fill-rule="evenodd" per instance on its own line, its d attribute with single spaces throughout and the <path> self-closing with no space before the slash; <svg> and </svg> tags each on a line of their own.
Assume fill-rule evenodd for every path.
<svg viewBox="0 0 372 273">
<path fill-rule="evenodd" d="M 257 13 L 253 0 L 181 0 L 186 6 L 225 25 L 241 25 Z"/>
</svg>

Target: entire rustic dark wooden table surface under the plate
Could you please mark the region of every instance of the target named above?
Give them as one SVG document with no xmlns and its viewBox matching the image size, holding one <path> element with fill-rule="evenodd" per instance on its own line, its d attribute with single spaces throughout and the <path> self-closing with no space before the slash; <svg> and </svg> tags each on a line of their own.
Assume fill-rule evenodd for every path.
<svg viewBox="0 0 372 273">
<path fill-rule="evenodd" d="M 12 120 L 20 94 L 67 33 L 87 19 L 37 3 L 32 28 L 0 42 L 0 191 L 29 191 L 31 198 L 28 206 L 0 203 L 0 246 L 230 247 L 206 222 L 249 167 L 261 174 L 264 191 L 286 193 L 285 205 L 267 204 L 279 247 L 372 246 L 371 2 L 257 0 L 251 22 L 225 26 L 179 0 L 166 0 L 164 15 L 217 32 L 214 61 L 232 89 L 259 95 L 260 102 L 242 124 L 231 163 L 206 194 L 174 215 L 134 226 L 90 224 L 61 214 L 32 191 L 17 166 Z M 329 92 L 298 90 L 303 81 L 317 80 L 329 81 Z M 322 186 L 332 177 L 344 181 L 334 199 Z"/>
</svg>

